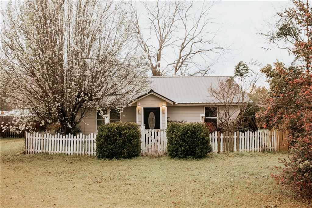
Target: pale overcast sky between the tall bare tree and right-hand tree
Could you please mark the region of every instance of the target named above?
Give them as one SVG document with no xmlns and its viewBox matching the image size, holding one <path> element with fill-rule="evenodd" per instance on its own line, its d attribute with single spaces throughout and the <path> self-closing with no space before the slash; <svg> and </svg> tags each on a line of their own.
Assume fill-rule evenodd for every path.
<svg viewBox="0 0 312 208">
<path fill-rule="evenodd" d="M 7 1 L 2 1 L 2 8 Z M 291 7 L 290 1 L 219 1 L 212 7 L 212 15 L 220 24 L 216 40 L 229 46 L 229 52 L 212 67 L 212 76 L 231 76 L 239 61 L 257 60 L 262 66 L 279 61 L 289 64 L 293 57 L 283 49 L 270 46 L 259 32 L 266 32 L 266 23 L 273 23 L 276 12 Z M 264 50 L 263 47 L 270 47 Z M 260 70 L 259 67 L 256 70 Z M 263 79 L 264 83 L 264 79 Z"/>
</svg>

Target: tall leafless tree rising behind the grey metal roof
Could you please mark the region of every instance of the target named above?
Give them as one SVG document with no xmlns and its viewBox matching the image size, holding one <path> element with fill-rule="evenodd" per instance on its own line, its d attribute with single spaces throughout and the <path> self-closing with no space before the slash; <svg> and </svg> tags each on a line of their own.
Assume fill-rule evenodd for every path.
<svg viewBox="0 0 312 208">
<path fill-rule="evenodd" d="M 153 76 L 207 74 L 226 49 L 214 41 L 218 31 L 212 31 L 213 19 L 209 17 L 213 5 L 213 2 L 142 2 L 139 6 L 144 8 L 147 18 L 139 16 L 137 5 L 130 5 L 134 32 Z"/>
</svg>

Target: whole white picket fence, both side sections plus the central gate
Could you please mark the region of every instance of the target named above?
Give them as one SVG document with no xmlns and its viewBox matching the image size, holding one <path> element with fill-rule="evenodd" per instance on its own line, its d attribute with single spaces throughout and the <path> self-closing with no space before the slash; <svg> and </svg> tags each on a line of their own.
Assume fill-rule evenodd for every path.
<svg viewBox="0 0 312 208">
<path fill-rule="evenodd" d="M 282 131 L 246 131 L 213 132 L 209 134 L 213 153 L 286 151 L 285 132 Z M 25 132 L 25 149 L 28 154 L 47 152 L 49 154 L 65 153 L 68 155 L 93 155 L 96 150 L 96 134 L 89 135 L 51 135 Z M 166 155 L 167 136 L 165 130 L 141 129 L 141 154 Z"/>
</svg>

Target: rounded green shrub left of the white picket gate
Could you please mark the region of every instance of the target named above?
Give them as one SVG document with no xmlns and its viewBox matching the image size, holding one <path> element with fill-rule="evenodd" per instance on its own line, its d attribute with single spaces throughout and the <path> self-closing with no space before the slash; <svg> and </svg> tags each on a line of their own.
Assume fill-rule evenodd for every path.
<svg viewBox="0 0 312 208">
<path fill-rule="evenodd" d="M 136 123 L 115 122 L 100 126 L 96 135 L 96 156 L 119 159 L 139 156 L 141 132 Z"/>
</svg>

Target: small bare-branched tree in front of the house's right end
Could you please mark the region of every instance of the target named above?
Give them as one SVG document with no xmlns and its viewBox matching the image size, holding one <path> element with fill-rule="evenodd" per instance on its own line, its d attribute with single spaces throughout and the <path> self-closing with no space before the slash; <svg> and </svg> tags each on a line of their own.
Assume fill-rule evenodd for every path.
<svg viewBox="0 0 312 208">
<path fill-rule="evenodd" d="M 236 65 L 234 77 L 219 77 L 217 84 L 208 88 L 212 100 L 217 103 L 218 127 L 226 131 L 235 131 L 244 126 L 244 116 L 253 109 L 255 104 L 251 98 L 257 92 L 256 83 L 259 73 L 251 71 L 244 62 Z"/>
</svg>

